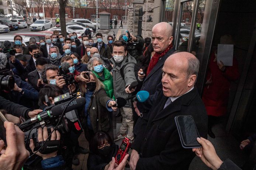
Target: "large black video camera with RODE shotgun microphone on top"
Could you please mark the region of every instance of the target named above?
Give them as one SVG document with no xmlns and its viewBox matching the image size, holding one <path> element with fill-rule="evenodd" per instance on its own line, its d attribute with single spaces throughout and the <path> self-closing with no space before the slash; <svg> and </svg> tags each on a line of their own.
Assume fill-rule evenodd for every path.
<svg viewBox="0 0 256 170">
<path fill-rule="evenodd" d="M 27 149 L 29 149 L 31 138 L 34 141 L 34 144 L 39 144 L 37 139 L 37 129 L 39 127 L 43 128 L 44 126 L 47 126 L 48 135 L 51 133 L 51 127 L 56 127 L 55 130 L 58 130 L 62 135 L 68 134 L 70 131 L 73 131 L 74 133 L 80 133 L 80 131 L 82 131 L 82 125 L 79 121 L 76 110 L 84 106 L 86 101 L 83 97 L 77 97 L 79 97 L 79 95 L 69 97 L 69 101 L 66 102 L 56 102 L 48 108 L 49 110 L 41 112 L 36 117 L 28 119 L 23 123 L 17 124 L 17 126 L 24 131 Z M 55 98 L 62 98 L 62 95 Z M 61 116 L 63 111 L 64 115 Z M 46 143 L 46 145 L 47 144 L 48 143 Z M 46 149 L 46 152 L 47 150 L 48 149 Z"/>
</svg>

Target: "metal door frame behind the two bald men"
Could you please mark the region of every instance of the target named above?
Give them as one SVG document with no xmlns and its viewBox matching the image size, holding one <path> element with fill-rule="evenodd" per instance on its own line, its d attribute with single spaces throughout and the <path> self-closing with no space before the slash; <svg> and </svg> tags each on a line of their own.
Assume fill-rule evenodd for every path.
<svg viewBox="0 0 256 170">
<path fill-rule="evenodd" d="M 174 45 L 177 50 L 179 39 L 179 30 L 180 30 L 180 22 L 181 22 L 181 11 L 182 4 L 190 0 L 176 0 L 174 2 L 174 18 L 173 18 L 173 36 L 176 37 L 174 39 Z M 215 32 L 215 27 L 218 19 L 219 6 L 221 0 L 206 0 L 205 4 L 205 12 L 203 19 L 203 28 L 201 30 L 201 38 L 199 40 L 200 47 L 198 49 L 197 58 L 200 61 L 200 70 L 197 78 L 197 88 L 198 93 L 200 95 L 203 94 L 204 80 L 207 73 L 207 66 L 210 59 L 213 36 Z M 192 12 L 191 26 L 190 26 L 190 35 L 188 39 L 188 49 L 187 52 L 191 53 L 194 39 L 194 32 L 196 29 L 196 19 L 197 12 L 199 7 L 199 0 L 194 0 L 194 10 Z"/>
</svg>

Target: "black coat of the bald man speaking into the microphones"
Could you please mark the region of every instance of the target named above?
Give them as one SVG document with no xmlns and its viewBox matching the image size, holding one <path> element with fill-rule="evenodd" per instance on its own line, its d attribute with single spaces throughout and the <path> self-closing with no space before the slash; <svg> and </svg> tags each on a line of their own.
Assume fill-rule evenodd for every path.
<svg viewBox="0 0 256 170">
<path fill-rule="evenodd" d="M 139 124 L 138 134 L 131 146 L 140 153 L 136 169 L 188 169 L 195 154 L 192 149 L 181 146 L 175 116 L 193 116 L 200 136 L 207 138 L 208 117 L 196 88 L 163 109 L 167 99 L 161 91 L 149 111 L 149 117 Z"/>
</svg>

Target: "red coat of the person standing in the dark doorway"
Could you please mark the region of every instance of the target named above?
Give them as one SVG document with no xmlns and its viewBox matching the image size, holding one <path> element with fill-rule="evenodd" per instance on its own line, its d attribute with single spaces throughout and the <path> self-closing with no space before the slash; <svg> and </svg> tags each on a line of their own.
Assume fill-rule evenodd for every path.
<svg viewBox="0 0 256 170">
<path fill-rule="evenodd" d="M 207 115 L 222 116 L 225 115 L 228 106 L 230 82 L 238 79 L 238 64 L 233 58 L 233 66 L 225 66 L 226 69 L 222 72 L 217 61 L 214 61 L 215 54 L 211 54 L 210 63 L 207 71 L 207 78 L 212 79 L 210 85 L 204 86 L 203 102 L 207 111 Z"/>
</svg>

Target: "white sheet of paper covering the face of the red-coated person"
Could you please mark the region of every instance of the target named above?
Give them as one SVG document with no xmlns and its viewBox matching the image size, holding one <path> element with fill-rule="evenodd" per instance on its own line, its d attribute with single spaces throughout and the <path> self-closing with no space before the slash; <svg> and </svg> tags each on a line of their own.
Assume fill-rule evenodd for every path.
<svg viewBox="0 0 256 170">
<path fill-rule="evenodd" d="M 222 61 L 225 66 L 232 66 L 233 52 L 233 44 L 218 44 L 217 61 Z"/>
</svg>

